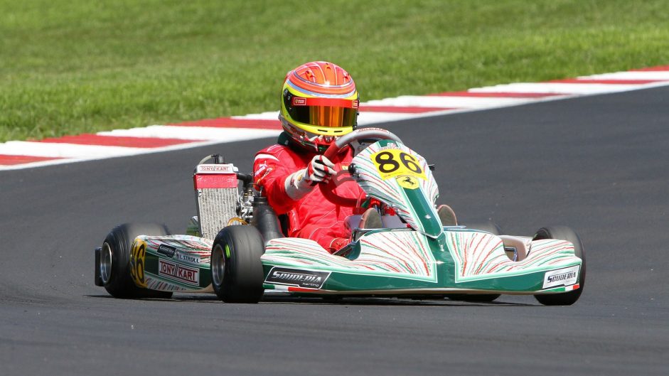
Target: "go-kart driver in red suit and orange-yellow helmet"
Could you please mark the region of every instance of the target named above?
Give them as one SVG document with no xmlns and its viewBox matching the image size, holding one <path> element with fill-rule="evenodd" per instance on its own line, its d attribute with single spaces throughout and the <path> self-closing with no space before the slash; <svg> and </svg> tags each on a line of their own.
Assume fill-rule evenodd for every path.
<svg viewBox="0 0 669 376">
<path fill-rule="evenodd" d="M 347 168 L 353 150 L 344 148 L 333 163 L 322 154 L 338 136 L 355 129 L 360 103 L 355 82 L 336 64 L 314 61 L 286 75 L 279 120 L 284 131 L 277 144 L 255 156 L 254 183 L 278 215 L 287 215 L 289 237 L 315 240 L 329 252 L 348 244 L 346 218 L 353 208 L 328 201 L 317 185 L 336 170 Z M 358 184 L 335 190 L 345 197 L 363 197 Z M 363 213 L 360 227 L 381 227 L 378 211 Z"/>
</svg>

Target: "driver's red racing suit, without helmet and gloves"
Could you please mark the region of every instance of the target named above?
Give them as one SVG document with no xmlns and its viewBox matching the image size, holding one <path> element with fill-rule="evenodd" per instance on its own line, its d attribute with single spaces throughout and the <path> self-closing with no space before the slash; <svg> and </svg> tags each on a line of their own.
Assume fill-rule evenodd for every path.
<svg viewBox="0 0 669 376">
<path fill-rule="evenodd" d="M 353 151 L 343 151 L 341 162 L 336 163 L 336 170 L 348 168 Z M 348 244 L 350 230 L 346 228 L 346 217 L 353 214 L 353 208 L 335 205 L 323 197 L 319 186 L 299 200 L 293 200 L 286 193 L 286 179 L 308 166 L 316 154 L 308 151 L 291 149 L 290 146 L 272 145 L 255 155 L 253 163 L 254 183 L 258 190 L 267 197 L 269 205 L 277 215 L 288 216 L 288 237 L 303 237 L 316 240 L 328 252 L 336 252 Z M 364 193 L 357 183 L 348 182 L 335 190 L 344 197 L 362 197 Z"/>
</svg>

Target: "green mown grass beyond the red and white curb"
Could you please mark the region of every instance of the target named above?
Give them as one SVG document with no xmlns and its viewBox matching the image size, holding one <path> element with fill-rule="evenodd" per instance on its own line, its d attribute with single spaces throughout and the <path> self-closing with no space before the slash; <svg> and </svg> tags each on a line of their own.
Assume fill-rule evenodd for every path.
<svg viewBox="0 0 669 376">
<path fill-rule="evenodd" d="M 669 64 L 668 1 L 0 0 L 0 141 L 277 109 L 308 60 L 363 100 Z"/>
</svg>

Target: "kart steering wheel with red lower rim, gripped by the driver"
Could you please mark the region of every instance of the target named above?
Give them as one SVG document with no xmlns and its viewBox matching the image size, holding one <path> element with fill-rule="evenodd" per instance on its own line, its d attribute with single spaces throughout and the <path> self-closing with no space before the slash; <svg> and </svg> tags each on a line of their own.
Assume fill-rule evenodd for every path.
<svg viewBox="0 0 669 376">
<path fill-rule="evenodd" d="M 400 137 L 395 136 L 395 134 L 392 134 L 391 131 L 387 131 L 385 129 L 381 128 L 363 128 L 363 129 L 357 129 L 355 131 L 350 132 L 349 134 L 345 134 L 344 136 L 339 137 L 334 141 L 328 149 L 325 151 L 323 156 L 325 156 L 327 159 L 329 159 L 333 164 L 337 164 L 338 162 L 341 162 L 341 151 L 348 145 L 350 145 L 354 141 L 360 141 L 363 139 L 375 139 L 375 140 L 392 140 L 392 141 L 397 141 L 397 142 L 402 142 L 400 140 Z M 335 189 L 338 186 L 338 183 L 343 182 L 343 179 L 338 179 L 338 176 L 341 176 L 341 169 L 336 169 L 336 173 L 332 176 L 330 181 L 327 183 L 320 183 L 319 188 L 321 189 L 321 193 L 323 194 L 323 197 L 326 198 L 326 200 L 330 201 L 331 203 L 339 206 L 345 206 L 347 208 L 355 208 L 358 206 L 358 198 L 351 198 L 351 197 L 345 197 L 338 195 L 335 193 Z"/>
</svg>

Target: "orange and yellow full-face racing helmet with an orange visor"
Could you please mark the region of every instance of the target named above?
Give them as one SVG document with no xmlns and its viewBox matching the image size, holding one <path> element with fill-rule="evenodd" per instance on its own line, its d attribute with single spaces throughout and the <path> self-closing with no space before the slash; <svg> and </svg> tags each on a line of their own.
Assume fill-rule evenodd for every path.
<svg viewBox="0 0 669 376">
<path fill-rule="evenodd" d="M 286 75 L 279 120 L 296 144 L 323 153 L 338 136 L 355 129 L 359 104 L 355 82 L 346 70 L 312 61 Z"/>
</svg>

